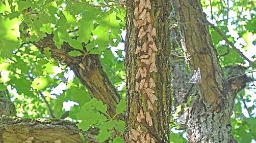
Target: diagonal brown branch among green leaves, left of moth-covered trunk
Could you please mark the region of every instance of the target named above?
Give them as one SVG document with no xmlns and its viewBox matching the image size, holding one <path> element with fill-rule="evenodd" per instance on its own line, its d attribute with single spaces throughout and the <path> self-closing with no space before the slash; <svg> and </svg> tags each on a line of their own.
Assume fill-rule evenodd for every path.
<svg viewBox="0 0 256 143">
<path fill-rule="evenodd" d="M 54 44 L 52 34 L 47 34 L 45 38 L 39 42 L 33 42 L 33 44 L 42 53 L 44 48 L 49 47 L 52 56 L 66 63 L 74 71 L 75 76 L 88 89 L 90 95 L 107 105 L 108 114 L 111 117 L 116 114 L 115 109 L 120 97 L 103 70 L 98 55 L 87 54 L 79 57 L 71 57 L 67 53 L 72 51 L 73 47 L 64 42 L 61 49 L 58 49 Z M 86 51 L 85 45 L 82 45 Z M 121 115 L 117 117 L 119 119 L 123 118 Z"/>
</svg>

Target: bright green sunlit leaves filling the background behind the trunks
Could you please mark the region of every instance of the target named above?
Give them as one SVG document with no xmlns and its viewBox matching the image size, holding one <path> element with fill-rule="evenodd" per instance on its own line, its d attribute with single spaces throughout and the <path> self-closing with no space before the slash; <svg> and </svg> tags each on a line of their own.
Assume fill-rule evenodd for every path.
<svg viewBox="0 0 256 143">
<path fill-rule="evenodd" d="M 254 61 L 255 2 L 202 0 L 201 3 L 208 20 Z M 46 32 L 53 33 L 58 48 L 64 41 L 74 47 L 68 53 L 73 57 L 82 54 L 81 43 L 86 43 L 88 53 L 100 55 L 104 70 L 117 88 L 122 100 L 116 111 L 122 114 L 126 106 L 123 66 L 125 7 L 99 7 L 116 4 L 119 2 L 107 0 L 0 1 L 0 90 L 9 91 L 8 96 L 16 105 L 18 117 L 65 118 L 77 122 L 83 130 L 90 126 L 99 127 L 97 138 L 100 142 L 122 142 L 124 121 L 107 119 L 106 105 L 89 96 L 73 71 L 50 57 L 48 48 L 42 55 L 30 42 L 40 40 Z M 239 74 L 255 70 L 213 28 L 209 30 L 223 69 L 244 65 L 247 69 Z M 255 142 L 255 92 L 255 85 L 249 83 L 236 97 L 231 123 L 238 142 Z M 170 125 L 171 142 L 187 142 L 186 132 L 176 123 L 175 116 Z M 120 136 L 113 136 L 113 131 L 118 131 Z"/>
</svg>

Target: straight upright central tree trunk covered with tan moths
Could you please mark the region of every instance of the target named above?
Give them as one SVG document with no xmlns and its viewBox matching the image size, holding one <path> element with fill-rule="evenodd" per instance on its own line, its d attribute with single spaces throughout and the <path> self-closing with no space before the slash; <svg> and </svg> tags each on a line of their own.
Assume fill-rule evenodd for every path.
<svg viewBox="0 0 256 143">
<path fill-rule="evenodd" d="M 169 142 L 170 2 L 126 6 L 126 142 Z"/>
</svg>

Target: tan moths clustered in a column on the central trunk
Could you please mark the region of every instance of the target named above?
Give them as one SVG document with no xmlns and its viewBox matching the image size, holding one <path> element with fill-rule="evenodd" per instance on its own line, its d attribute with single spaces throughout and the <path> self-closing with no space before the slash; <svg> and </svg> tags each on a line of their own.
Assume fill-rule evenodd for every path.
<svg viewBox="0 0 256 143">
<path fill-rule="evenodd" d="M 158 100 L 153 90 L 156 87 L 152 78 L 152 72 L 157 72 L 156 52 L 158 51 L 155 37 L 156 28 L 151 24 L 151 4 L 150 0 L 134 0 L 135 10 L 133 22 L 138 29 L 137 48 L 135 54 L 138 55 L 138 71 L 136 74 L 135 91 L 142 92 L 147 100 L 147 111 L 140 109 L 137 115 L 137 123 L 145 122 L 148 126 L 152 126 L 152 117 L 150 112 L 153 111 L 153 103 Z M 155 139 L 144 132 L 140 125 L 137 129 L 129 132 L 131 142 L 155 142 Z"/>
</svg>

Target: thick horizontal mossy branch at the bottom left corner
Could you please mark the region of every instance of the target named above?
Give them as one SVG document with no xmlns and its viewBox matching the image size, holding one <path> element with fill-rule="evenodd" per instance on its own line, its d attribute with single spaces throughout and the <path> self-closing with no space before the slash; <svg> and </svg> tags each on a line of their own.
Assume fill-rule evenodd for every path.
<svg viewBox="0 0 256 143">
<path fill-rule="evenodd" d="M 0 117 L 1 142 L 74 142 L 82 143 L 81 134 L 88 142 L 98 142 L 98 129 L 82 132 L 75 123 L 65 120 L 22 119 Z"/>
</svg>

